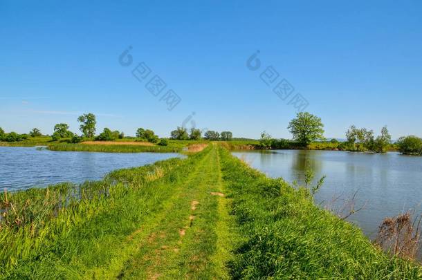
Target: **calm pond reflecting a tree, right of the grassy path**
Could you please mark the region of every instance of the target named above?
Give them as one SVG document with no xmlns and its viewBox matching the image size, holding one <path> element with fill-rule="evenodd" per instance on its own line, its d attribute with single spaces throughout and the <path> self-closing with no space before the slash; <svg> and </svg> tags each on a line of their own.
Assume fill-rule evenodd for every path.
<svg viewBox="0 0 422 280">
<path fill-rule="evenodd" d="M 370 238 L 386 216 L 410 208 L 421 213 L 422 157 L 398 153 L 369 154 L 343 151 L 247 151 L 235 156 L 271 177 L 304 183 L 305 166 L 315 171 L 315 180 L 326 175 L 315 196 L 318 203 L 339 209 L 357 191 L 356 209 L 365 209 L 348 220 L 357 223 Z M 334 199 L 341 195 L 338 200 Z M 333 203 L 333 200 L 336 202 Z"/>
</svg>

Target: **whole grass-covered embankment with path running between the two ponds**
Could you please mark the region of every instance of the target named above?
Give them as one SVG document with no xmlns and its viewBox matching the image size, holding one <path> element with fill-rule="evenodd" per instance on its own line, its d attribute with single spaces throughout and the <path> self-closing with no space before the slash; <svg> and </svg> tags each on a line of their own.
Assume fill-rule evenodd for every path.
<svg viewBox="0 0 422 280">
<path fill-rule="evenodd" d="M 211 145 L 99 182 L 1 194 L 0 275 L 417 279 L 303 189 Z"/>
</svg>

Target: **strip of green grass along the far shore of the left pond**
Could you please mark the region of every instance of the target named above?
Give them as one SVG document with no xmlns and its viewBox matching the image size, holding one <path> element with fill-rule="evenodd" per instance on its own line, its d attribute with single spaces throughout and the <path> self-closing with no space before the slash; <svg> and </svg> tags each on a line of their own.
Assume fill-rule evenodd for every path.
<svg viewBox="0 0 422 280">
<path fill-rule="evenodd" d="M 181 151 L 181 147 L 174 146 L 141 146 L 128 144 L 51 144 L 48 145 L 51 151 L 100 151 L 104 153 L 140 153 L 157 152 L 169 153 Z"/>
</svg>

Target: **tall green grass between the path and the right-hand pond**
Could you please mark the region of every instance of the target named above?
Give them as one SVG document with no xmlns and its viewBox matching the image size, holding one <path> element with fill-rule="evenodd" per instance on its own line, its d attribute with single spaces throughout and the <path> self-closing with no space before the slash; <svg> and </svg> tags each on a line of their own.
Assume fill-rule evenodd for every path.
<svg viewBox="0 0 422 280">
<path fill-rule="evenodd" d="M 235 279 L 420 279 L 419 265 L 390 259 L 358 227 L 319 209 L 295 190 L 239 163 L 227 151 L 222 171 L 243 241 L 230 263 Z"/>
</svg>

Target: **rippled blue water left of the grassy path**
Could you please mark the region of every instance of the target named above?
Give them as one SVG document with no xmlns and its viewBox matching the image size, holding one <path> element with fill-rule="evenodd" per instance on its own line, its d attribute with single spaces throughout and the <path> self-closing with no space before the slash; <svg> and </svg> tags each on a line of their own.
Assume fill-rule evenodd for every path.
<svg viewBox="0 0 422 280">
<path fill-rule="evenodd" d="M 181 157 L 178 153 L 89 153 L 0 147 L 0 189 L 99 180 L 109 171 Z"/>
</svg>

